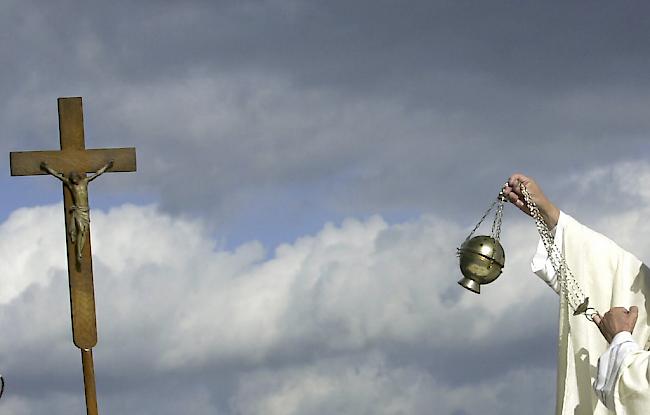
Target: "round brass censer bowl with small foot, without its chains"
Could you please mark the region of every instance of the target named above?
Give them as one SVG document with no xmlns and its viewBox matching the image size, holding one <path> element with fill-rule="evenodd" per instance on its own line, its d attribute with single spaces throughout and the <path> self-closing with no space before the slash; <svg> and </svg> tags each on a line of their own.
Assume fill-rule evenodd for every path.
<svg viewBox="0 0 650 415">
<path fill-rule="evenodd" d="M 499 241 L 486 235 L 465 241 L 458 248 L 458 257 L 460 272 L 464 276 L 458 283 L 477 294 L 481 293 L 481 285 L 489 284 L 501 275 L 506 260 Z"/>
</svg>

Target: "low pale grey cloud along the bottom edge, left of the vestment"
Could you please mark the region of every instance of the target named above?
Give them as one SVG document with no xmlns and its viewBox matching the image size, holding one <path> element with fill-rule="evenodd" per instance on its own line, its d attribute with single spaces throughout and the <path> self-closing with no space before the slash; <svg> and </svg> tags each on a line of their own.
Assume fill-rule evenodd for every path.
<svg viewBox="0 0 650 415">
<path fill-rule="evenodd" d="M 417 366 L 391 367 L 375 354 L 323 359 L 297 369 L 242 376 L 232 406 L 234 413 L 243 415 L 518 414 L 523 407 L 546 405 L 552 399 L 553 385 L 539 382 L 552 372 L 520 370 L 450 387 Z"/>
</svg>

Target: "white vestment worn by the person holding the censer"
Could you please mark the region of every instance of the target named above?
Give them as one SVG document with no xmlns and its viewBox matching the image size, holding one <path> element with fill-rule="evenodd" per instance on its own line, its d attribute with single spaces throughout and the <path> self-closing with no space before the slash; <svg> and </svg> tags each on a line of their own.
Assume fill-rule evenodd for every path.
<svg viewBox="0 0 650 415">
<path fill-rule="evenodd" d="M 646 303 L 650 300 L 650 270 L 610 239 L 564 213 L 556 232 L 556 245 L 591 307 L 601 314 L 612 307 L 639 308 L 632 335 L 617 336 L 610 347 L 594 323 L 584 315 L 573 316 L 561 293 L 556 414 L 650 414 L 650 353 L 637 346 L 645 347 L 650 337 L 650 304 Z M 543 246 L 541 250 L 545 254 Z M 551 287 L 560 290 L 552 267 L 539 250 L 532 266 Z M 600 387 L 598 395 L 612 411 L 599 400 L 594 387 Z M 603 392 L 606 390 L 610 393 Z"/>
</svg>

